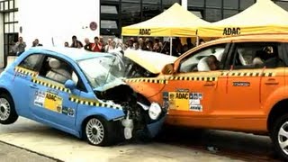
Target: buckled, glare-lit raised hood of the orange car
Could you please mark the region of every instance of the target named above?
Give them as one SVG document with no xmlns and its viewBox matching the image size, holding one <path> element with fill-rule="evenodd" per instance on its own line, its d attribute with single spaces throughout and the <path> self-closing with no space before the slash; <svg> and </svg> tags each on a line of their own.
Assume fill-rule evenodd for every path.
<svg viewBox="0 0 288 162">
<path fill-rule="evenodd" d="M 127 49 L 124 51 L 124 56 L 153 74 L 160 74 L 166 64 L 174 63 L 176 60 L 174 56 L 145 50 Z"/>
</svg>

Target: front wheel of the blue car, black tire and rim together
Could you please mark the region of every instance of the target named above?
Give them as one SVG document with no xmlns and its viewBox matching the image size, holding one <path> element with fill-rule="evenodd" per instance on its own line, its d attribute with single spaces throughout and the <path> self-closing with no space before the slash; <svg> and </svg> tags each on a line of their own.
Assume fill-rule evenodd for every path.
<svg viewBox="0 0 288 162">
<path fill-rule="evenodd" d="M 92 117 L 85 122 L 84 134 L 87 142 L 94 146 L 110 146 L 114 142 L 113 122 L 102 117 Z"/>
</svg>

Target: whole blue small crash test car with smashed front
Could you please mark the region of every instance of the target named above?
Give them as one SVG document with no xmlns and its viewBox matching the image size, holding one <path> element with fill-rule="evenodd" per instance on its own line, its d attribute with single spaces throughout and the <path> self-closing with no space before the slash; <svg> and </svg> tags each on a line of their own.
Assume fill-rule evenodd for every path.
<svg viewBox="0 0 288 162">
<path fill-rule="evenodd" d="M 121 56 L 84 49 L 31 48 L 0 75 L 0 123 L 18 116 L 96 146 L 156 136 L 166 117 L 123 81 Z"/>
</svg>

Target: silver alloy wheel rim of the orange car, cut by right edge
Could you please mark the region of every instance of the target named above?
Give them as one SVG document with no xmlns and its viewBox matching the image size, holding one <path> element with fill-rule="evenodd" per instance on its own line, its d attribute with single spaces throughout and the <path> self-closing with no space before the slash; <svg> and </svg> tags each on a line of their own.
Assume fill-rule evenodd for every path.
<svg viewBox="0 0 288 162">
<path fill-rule="evenodd" d="M 278 131 L 278 143 L 284 153 L 288 155 L 288 121 L 284 122 Z"/>
</svg>

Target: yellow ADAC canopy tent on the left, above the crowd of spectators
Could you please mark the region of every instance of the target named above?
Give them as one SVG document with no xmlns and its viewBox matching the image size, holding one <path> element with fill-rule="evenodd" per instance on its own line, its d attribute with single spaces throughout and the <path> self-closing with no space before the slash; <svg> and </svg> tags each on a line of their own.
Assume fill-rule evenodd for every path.
<svg viewBox="0 0 288 162">
<path fill-rule="evenodd" d="M 142 23 L 122 28 L 122 36 L 148 37 L 191 37 L 196 36 L 197 27 L 210 24 L 185 10 L 180 4 L 173 4 L 162 14 Z"/>
</svg>

